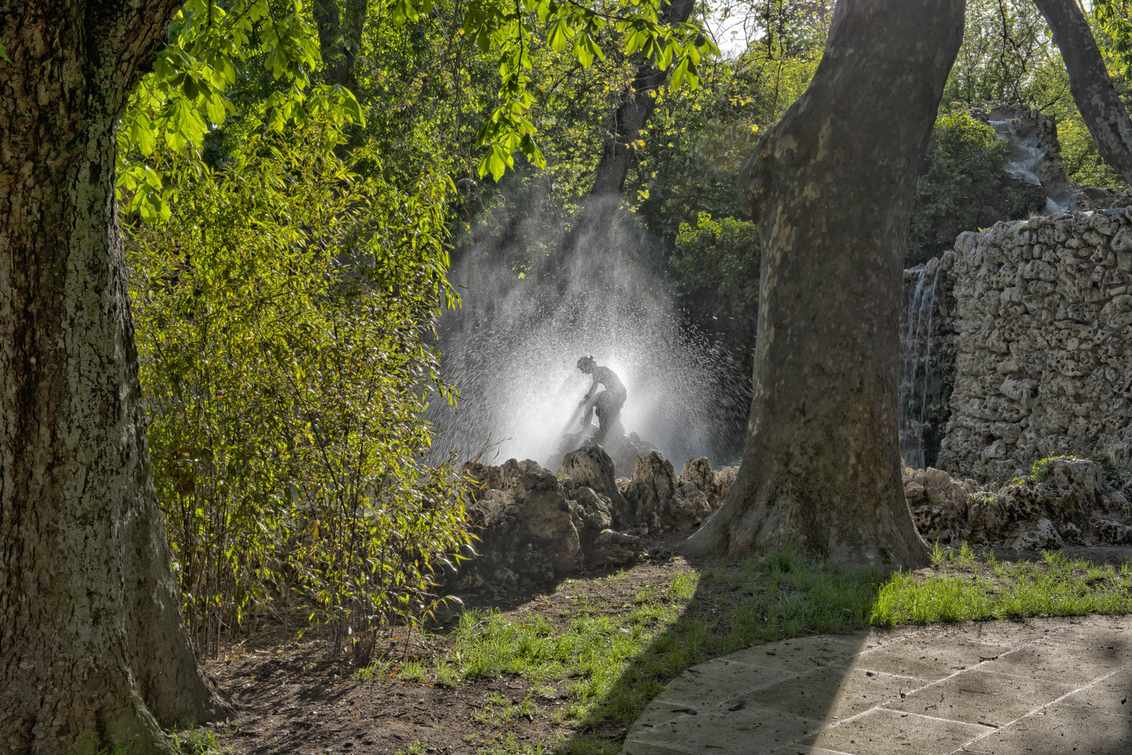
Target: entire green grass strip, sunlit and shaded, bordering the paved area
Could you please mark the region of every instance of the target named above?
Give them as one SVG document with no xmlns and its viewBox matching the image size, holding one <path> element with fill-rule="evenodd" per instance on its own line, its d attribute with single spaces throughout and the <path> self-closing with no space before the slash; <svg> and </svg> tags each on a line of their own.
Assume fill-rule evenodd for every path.
<svg viewBox="0 0 1132 755">
<path fill-rule="evenodd" d="M 479 755 L 534 755 L 538 746 L 514 741 L 520 717 L 575 730 L 628 727 L 688 667 L 762 642 L 868 626 L 1132 612 L 1130 564 L 1100 567 L 1061 554 L 1015 564 L 966 546 L 936 547 L 932 563 L 885 576 L 781 551 L 674 573 L 668 584 L 642 586 L 620 606 L 595 602 L 583 593 L 585 583 L 572 582 L 564 591 L 574 600 L 558 611 L 558 624 L 534 612 L 470 610 L 435 668 L 406 663 L 400 674 L 446 686 L 500 675 L 529 679 L 533 688 L 522 702 L 488 697 L 475 718 L 496 733 L 475 744 Z M 607 578 L 625 582 L 625 573 Z M 542 710 L 535 698 L 547 690 L 564 694 L 565 704 Z M 552 749 L 614 755 L 619 748 L 616 737 L 574 735 Z"/>
</svg>

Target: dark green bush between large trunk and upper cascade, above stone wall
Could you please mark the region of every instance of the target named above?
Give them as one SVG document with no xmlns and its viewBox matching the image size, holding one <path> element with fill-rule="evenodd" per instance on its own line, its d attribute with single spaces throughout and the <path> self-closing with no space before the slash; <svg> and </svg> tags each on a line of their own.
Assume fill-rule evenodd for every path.
<svg viewBox="0 0 1132 755">
<path fill-rule="evenodd" d="M 1010 145 L 969 113 L 940 118 L 916 185 L 904 265 L 911 267 L 955 243 L 962 231 L 1041 209 L 1045 190 L 1004 172 Z"/>
</svg>

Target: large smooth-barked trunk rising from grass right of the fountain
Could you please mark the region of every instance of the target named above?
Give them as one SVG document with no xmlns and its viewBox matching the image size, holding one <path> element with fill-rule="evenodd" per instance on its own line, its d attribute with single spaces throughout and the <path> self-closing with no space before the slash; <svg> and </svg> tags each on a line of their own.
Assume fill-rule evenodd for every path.
<svg viewBox="0 0 1132 755">
<path fill-rule="evenodd" d="M 735 489 L 685 551 L 925 563 L 900 477 L 900 288 L 963 10 L 839 0 L 813 83 L 743 169 L 763 249 L 754 398 Z"/>
</svg>

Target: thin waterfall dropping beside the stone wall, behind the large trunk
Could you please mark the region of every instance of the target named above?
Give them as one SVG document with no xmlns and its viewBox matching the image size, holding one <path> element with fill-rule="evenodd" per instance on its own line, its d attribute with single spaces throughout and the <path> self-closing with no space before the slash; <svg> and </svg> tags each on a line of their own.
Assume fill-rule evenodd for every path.
<svg viewBox="0 0 1132 755">
<path fill-rule="evenodd" d="M 940 280 L 940 259 L 920 268 L 916 289 L 904 299 L 907 320 L 900 344 L 900 455 L 904 465 L 924 469 L 924 423 L 927 419 L 932 367 L 932 314 Z M 921 385 L 923 384 L 923 385 Z"/>
</svg>

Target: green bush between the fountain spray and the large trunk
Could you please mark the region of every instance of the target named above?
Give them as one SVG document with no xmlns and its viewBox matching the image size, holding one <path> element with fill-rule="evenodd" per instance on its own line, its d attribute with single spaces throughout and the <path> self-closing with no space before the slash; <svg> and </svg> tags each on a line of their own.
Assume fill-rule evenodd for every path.
<svg viewBox="0 0 1132 755">
<path fill-rule="evenodd" d="M 760 249 L 754 223 L 700 213 L 696 228 L 680 223 L 669 260 L 676 299 L 692 320 L 744 346 L 753 346 L 758 326 Z"/>
</svg>

